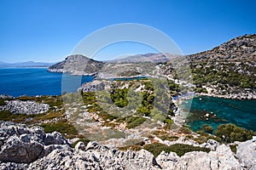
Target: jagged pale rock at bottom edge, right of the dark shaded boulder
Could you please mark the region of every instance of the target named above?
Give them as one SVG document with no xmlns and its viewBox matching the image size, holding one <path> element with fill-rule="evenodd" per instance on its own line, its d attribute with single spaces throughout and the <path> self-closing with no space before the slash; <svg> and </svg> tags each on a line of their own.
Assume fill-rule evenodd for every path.
<svg viewBox="0 0 256 170">
<path fill-rule="evenodd" d="M 137 153 L 108 149 L 96 142 L 85 150 L 54 150 L 48 156 L 34 161 L 29 169 L 157 169 L 154 156 L 147 150 Z"/>
</svg>

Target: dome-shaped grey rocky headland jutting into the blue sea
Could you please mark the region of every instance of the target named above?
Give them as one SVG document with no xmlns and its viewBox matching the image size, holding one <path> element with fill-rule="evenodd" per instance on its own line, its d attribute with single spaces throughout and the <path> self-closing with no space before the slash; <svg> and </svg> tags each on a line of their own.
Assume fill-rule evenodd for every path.
<svg viewBox="0 0 256 170">
<path fill-rule="evenodd" d="M 93 75 L 102 68 L 102 65 L 101 61 L 75 54 L 68 56 L 64 61 L 50 66 L 48 71 L 64 72 L 73 75 Z"/>
</svg>

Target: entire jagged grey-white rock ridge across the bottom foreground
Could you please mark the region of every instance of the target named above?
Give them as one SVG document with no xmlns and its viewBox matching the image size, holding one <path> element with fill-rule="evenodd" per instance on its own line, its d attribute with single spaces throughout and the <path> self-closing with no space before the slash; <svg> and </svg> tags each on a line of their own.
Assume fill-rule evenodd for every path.
<svg viewBox="0 0 256 170">
<path fill-rule="evenodd" d="M 147 150 L 133 152 L 83 142 L 72 148 L 60 133 L 38 127 L 0 122 L 1 169 L 255 169 L 256 139 L 238 144 L 236 155 L 225 144 L 213 141 L 209 153 L 184 156 L 162 151 L 154 157 Z M 212 144 L 212 140 L 207 144 Z M 211 148 L 211 147 L 210 147 Z"/>
</svg>

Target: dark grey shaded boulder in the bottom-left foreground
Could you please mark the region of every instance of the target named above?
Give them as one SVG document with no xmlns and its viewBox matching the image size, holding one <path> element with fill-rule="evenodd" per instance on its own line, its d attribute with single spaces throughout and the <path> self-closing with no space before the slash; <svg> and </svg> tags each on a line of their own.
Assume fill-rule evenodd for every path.
<svg viewBox="0 0 256 170">
<path fill-rule="evenodd" d="M 67 139 L 60 133 L 45 134 L 38 127 L 0 122 L 0 161 L 30 163 L 65 147 L 68 147 Z"/>
</svg>

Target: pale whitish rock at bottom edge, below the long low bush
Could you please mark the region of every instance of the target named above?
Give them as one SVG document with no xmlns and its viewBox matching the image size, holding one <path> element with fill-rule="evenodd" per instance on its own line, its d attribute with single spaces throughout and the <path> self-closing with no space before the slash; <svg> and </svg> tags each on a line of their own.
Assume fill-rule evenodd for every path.
<svg viewBox="0 0 256 170">
<path fill-rule="evenodd" d="M 209 153 L 192 151 L 181 157 L 173 152 L 166 153 L 162 151 L 156 157 L 156 161 L 162 169 L 242 169 L 230 147 L 224 144 L 219 145 L 216 151 L 210 151 Z"/>
</svg>

